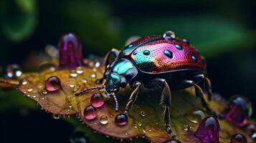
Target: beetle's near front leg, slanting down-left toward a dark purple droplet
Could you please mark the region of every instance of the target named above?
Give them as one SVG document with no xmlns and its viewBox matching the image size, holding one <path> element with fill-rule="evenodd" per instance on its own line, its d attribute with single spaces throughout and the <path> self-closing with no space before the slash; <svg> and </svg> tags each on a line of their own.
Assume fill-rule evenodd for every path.
<svg viewBox="0 0 256 143">
<path fill-rule="evenodd" d="M 133 88 L 135 88 L 135 89 L 133 90 L 133 93 L 131 93 L 131 96 L 127 101 L 124 114 L 128 114 L 128 112 L 133 107 L 133 103 L 136 101 L 136 99 L 138 97 L 138 90 L 140 89 L 140 87 L 141 87 L 141 82 L 135 82 L 133 84 Z"/>
</svg>

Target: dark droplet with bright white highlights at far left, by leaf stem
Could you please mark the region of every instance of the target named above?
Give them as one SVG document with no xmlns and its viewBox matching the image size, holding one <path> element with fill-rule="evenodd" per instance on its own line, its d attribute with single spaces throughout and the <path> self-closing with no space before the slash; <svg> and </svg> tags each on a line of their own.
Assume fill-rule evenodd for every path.
<svg viewBox="0 0 256 143">
<path fill-rule="evenodd" d="M 17 78 L 22 76 L 22 70 L 18 64 L 10 64 L 6 68 L 6 74 L 9 78 Z"/>
</svg>

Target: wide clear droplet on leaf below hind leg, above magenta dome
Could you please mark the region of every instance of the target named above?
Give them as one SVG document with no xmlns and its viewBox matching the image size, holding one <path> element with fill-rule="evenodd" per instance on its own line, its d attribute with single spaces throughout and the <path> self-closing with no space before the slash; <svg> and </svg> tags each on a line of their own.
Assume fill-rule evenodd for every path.
<svg viewBox="0 0 256 143">
<path fill-rule="evenodd" d="M 204 119 L 205 114 L 202 110 L 191 110 L 186 113 L 186 119 L 189 119 L 190 122 L 199 123 Z"/>
</svg>

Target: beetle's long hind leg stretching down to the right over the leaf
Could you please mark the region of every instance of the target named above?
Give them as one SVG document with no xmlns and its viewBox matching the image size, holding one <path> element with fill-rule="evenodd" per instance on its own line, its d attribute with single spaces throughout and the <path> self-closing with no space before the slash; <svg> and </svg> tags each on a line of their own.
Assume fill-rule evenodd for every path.
<svg viewBox="0 0 256 143">
<path fill-rule="evenodd" d="M 202 90 L 202 87 L 200 87 L 198 84 L 195 84 L 191 80 L 185 80 L 184 84 L 189 84 L 191 86 L 194 86 L 195 92 L 196 92 L 196 97 L 199 97 L 201 99 L 202 105 L 205 109 L 207 109 L 207 112 L 210 114 L 213 114 L 215 117 L 222 118 L 222 114 L 217 114 L 216 112 L 212 111 L 212 109 L 209 107 L 207 102 L 204 99 L 204 92 Z"/>
</svg>

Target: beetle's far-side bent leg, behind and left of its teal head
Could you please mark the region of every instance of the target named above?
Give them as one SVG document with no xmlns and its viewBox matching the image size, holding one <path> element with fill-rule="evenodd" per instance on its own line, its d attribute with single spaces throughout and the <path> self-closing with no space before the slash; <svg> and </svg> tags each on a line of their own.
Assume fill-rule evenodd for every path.
<svg viewBox="0 0 256 143">
<path fill-rule="evenodd" d="M 104 62 L 105 62 L 105 72 L 108 71 L 108 66 L 109 64 L 111 64 L 111 57 L 113 56 L 115 59 L 118 57 L 118 54 L 120 53 L 120 51 L 118 49 L 111 49 L 111 51 L 108 51 L 108 54 L 106 54 L 105 58 L 104 58 Z M 104 74 L 105 74 L 104 72 Z M 97 84 L 102 84 L 104 81 L 104 77 L 97 79 L 96 83 Z"/>
</svg>

